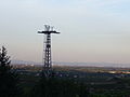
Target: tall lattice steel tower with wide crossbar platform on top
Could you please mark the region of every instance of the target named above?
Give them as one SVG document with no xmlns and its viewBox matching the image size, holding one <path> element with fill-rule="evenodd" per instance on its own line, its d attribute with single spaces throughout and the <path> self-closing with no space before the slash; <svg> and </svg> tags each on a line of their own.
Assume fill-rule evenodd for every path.
<svg viewBox="0 0 130 97">
<path fill-rule="evenodd" d="M 53 30 L 53 27 L 44 25 L 44 31 L 38 31 L 38 33 L 46 34 L 44 41 L 44 58 L 43 58 L 43 73 L 48 78 L 52 73 L 52 58 L 51 58 L 51 33 L 60 33 Z"/>
</svg>

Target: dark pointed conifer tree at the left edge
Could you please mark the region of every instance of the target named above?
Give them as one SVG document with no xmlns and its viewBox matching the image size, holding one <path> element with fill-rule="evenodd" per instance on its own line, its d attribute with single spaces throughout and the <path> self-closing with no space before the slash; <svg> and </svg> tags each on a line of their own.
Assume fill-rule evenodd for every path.
<svg viewBox="0 0 130 97">
<path fill-rule="evenodd" d="M 18 77 L 10 65 L 4 46 L 0 50 L 0 97 L 18 97 Z"/>
</svg>

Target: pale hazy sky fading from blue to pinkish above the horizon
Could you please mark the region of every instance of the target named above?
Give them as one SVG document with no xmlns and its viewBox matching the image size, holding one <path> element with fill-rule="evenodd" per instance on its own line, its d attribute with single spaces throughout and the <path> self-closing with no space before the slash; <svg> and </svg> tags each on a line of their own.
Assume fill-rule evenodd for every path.
<svg viewBox="0 0 130 97">
<path fill-rule="evenodd" d="M 130 0 L 0 0 L 0 46 L 41 61 L 43 25 L 55 27 L 53 61 L 130 64 Z"/>
</svg>

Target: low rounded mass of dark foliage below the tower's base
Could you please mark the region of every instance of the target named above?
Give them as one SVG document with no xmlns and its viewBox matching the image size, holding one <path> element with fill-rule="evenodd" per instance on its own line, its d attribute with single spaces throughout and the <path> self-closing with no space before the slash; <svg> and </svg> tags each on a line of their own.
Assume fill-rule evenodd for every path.
<svg viewBox="0 0 130 97">
<path fill-rule="evenodd" d="M 87 86 L 73 80 L 42 77 L 30 97 L 88 97 Z"/>
</svg>

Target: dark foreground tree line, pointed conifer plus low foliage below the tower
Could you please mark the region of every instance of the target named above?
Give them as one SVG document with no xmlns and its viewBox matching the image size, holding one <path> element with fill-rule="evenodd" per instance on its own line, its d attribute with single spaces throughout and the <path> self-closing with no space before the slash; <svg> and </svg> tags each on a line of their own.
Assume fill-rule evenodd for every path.
<svg viewBox="0 0 130 97">
<path fill-rule="evenodd" d="M 11 66 L 6 48 L 0 50 L 0 97 L 88 97 L 89 91 L 82 83 L 55 77 L 40 77 L 40 80 L 23 95 L 21 75 Z"/>
</svg>

